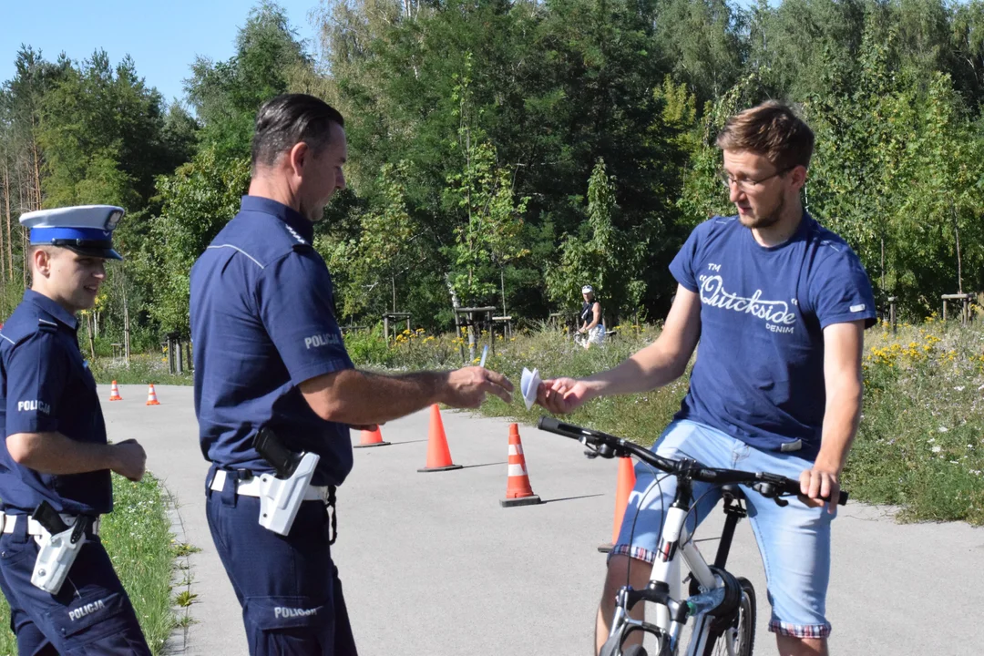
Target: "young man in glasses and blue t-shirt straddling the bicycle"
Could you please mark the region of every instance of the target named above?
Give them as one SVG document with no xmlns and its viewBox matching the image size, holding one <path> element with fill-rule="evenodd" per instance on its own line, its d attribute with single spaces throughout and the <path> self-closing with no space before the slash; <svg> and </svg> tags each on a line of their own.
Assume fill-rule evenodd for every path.
<svg viewBox="0 0 984 656">
<path fill-rule="evenodd" d="M 679 285 L 659 338 L 609 371 L 546 381 L 537 401 L 567 413 L 597 396 L 664 386 L 684 374 L 700 341 L 690 390 L 654 448 L 800 480 L 803 498 L 788 507 L 746 495 L 779 653 L 822 656 L 830 521 L 861 412 L 862 333 L 875 319 L 871 283 L 847 244 L 803 209 L 814 136 L 788 107 L 767 102 L 731 117 L 717 145 L 738 213 L 697 226 L 673 260 Z M 662 508 L 673 500 L 672 479 L 650 491 L 651 474 L 639 474 L 609 557 L 598 649 L 627 577 L 646 586 Z M 702 505 L 699 519 L 708 509 Z"/>
</svg>

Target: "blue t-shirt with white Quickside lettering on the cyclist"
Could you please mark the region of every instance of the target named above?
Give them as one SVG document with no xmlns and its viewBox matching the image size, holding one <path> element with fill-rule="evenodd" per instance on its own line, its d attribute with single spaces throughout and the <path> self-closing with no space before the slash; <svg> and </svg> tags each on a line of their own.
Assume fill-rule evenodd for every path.
<svg viewBox="0 0 984 656">
<path fill-rule="evenodd" d="M 854 252 L 806 213 L 770 248 L 737 216 L 715 216 L 694 229 L 670 271 L 701 296 L 697 362 L 677 418 L 816 459 L 827 398 L 823 329 L 875 323 Z"/>
</svg>

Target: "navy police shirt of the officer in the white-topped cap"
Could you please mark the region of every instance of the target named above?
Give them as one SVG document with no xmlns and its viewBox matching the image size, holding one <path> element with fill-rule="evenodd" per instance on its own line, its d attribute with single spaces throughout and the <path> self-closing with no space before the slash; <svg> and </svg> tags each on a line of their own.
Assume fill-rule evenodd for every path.
<svg viewBox="0 0 984 656">
<path fill-rule="evenodd" d="M 106 444 L 106 425 L 76 335 L 76 319 L 31 289 L 0 330 L 0 504 L 29 513 L 42 501 L 67 514 L 102 514 L 113 508 L 108 469 L 84 474 L 42 474 L 14 462 L 6 438 L 57 432 L 70 440 Z"/>
</svg>

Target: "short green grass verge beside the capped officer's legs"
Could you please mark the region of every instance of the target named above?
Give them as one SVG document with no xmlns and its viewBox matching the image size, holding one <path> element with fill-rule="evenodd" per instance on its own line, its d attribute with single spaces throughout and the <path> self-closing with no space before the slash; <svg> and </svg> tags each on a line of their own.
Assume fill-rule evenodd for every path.
<svg viewBox="0 0 984 656">
<path fill-rule="evenodd" d="M 159 654 L 177 618 L 171 608 L 175 545 L 160 484 L 148 474 L 133 483 L 113 474 L 114 509 L 102 518 L 100 537 L 126 588 L 154 654 Z M 10 610 L 0 603 L 0 654 L 17 654 Z"/>
</svg>

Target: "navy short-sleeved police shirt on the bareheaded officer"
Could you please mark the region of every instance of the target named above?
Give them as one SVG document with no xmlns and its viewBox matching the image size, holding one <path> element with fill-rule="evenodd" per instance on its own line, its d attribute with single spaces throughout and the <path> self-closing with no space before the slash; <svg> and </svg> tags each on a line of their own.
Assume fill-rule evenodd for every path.
<svg viewBox="0 0 984 656">
<path fill-rule="evenodd" d="M 340 485 L 352 468 L 348 426 L 321 419 L 297 387 L 352 368 L 313 238 L 300 213 L 245 196 L 195 263 L 195 411 L 202 451 L 218 467 L 272 472 L 252 447 L 267 427 L 284 446 L 321 456 L 315 485 Z"/>
</svg>

